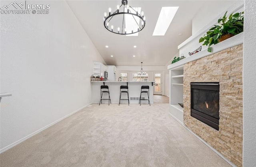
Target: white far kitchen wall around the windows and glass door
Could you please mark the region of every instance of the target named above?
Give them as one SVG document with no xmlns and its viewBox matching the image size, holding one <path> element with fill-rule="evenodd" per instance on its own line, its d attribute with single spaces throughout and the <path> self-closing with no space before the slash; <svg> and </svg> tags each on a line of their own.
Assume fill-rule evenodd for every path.
<svg viewBox="0 0 256 167">
<path fill-rule="evenodd" d="M 121 73 L 127 73 L 127 80 L 132 81 L 132 74 L 140 72 L 141 66 L 116 66 L 116 80 L 120 77 Z M 143 66 L 142 69 L 144 72 L 148 73 L 148 81 L 154 80 L 154 72 L 162 72 L 162 95 L 165 94 L 165 66 Z"/>
</svg>

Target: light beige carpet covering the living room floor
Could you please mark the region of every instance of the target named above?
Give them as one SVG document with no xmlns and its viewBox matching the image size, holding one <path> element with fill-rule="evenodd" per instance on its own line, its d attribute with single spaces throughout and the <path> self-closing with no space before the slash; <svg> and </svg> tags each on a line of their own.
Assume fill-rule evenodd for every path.
<svg viewBox="0 0 256 167">
<path fill-rule="evenodd" d="M 168 104 L 92 105 L 0 154 L 1 167 L 228 167 Z"/>
</svg>

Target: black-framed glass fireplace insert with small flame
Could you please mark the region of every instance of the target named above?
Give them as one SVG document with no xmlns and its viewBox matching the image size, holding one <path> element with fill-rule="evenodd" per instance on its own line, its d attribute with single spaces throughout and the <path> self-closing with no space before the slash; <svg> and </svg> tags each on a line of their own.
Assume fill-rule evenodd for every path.
<svg viewBox="0 0 256 167">
<path fill-rule="evenodd" d="M 219 83 L 190 83 L 190 85 L 191 116 L 219 130 Z"/>
</svg>

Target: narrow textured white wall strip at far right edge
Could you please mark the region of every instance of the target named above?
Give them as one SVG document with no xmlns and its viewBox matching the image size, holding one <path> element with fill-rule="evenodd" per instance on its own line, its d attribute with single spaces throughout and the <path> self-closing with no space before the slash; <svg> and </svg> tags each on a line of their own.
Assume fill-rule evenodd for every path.
<svg viewBox="0 0 256 167">
<path fill-rule="evenodd" d="M 243 166 L 256 165 L 256 57 L 255 16 L 256 1 L 244 4 L 244 58 L 243 58 Z"/>
</svg>

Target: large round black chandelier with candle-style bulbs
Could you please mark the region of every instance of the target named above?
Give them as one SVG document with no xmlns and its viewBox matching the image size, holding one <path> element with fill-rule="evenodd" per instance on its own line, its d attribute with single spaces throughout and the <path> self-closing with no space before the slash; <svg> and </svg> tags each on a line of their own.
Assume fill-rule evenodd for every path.
<svg viewBox="0 0 256 167">
<path fill-rule="evenodd" d="M 140 32 L 145 27 L 146 17 L 143 11 L 140 12 L 141 8 L 132 8 L 127 0 L 122 0 L 122 4 L 117 5 L 116 8 L 117 10 L 112 14 L 111 8 L 108 8 L 108 14 L 104 13 L 104 26 L 108 31 L 128 35 Z"/>
</svg>

